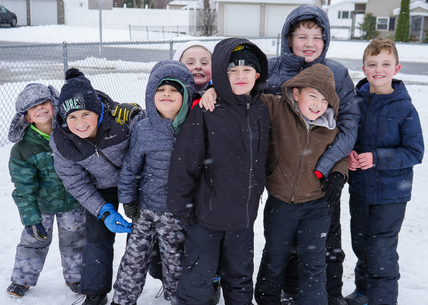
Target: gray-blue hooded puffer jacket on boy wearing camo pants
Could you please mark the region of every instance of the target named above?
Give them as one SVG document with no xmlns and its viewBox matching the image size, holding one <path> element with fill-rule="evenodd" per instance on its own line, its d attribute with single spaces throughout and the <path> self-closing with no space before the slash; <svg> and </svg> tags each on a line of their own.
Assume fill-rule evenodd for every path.
<svg viewBox="0 0 428 305">
<path fill-rule="evenodd" d="M 152 69 L 146 88 L 147 117 L 135 125 L 131 143 L 120 171 L 119 202 L 137 201 L 140 209 L 168 212 L 166 194 L 171 152 L 176 133 L 170 119 L 162 119 L 155 106 L 155 93 L 164 79 L 184 84 L 183 103 L 192 105 L 195 81 L 180 61 L 160 61 Z M 187 92 L 186 92 L 187 91 Z M 183 104 L 185 107 L 185 105 Z M 181 108 L 185 111 L 185 108 Z M 187 112 L 178 117 L 183 120 Z M 182 122 L 182 121 L 181 121 Z"/>
</svg>

